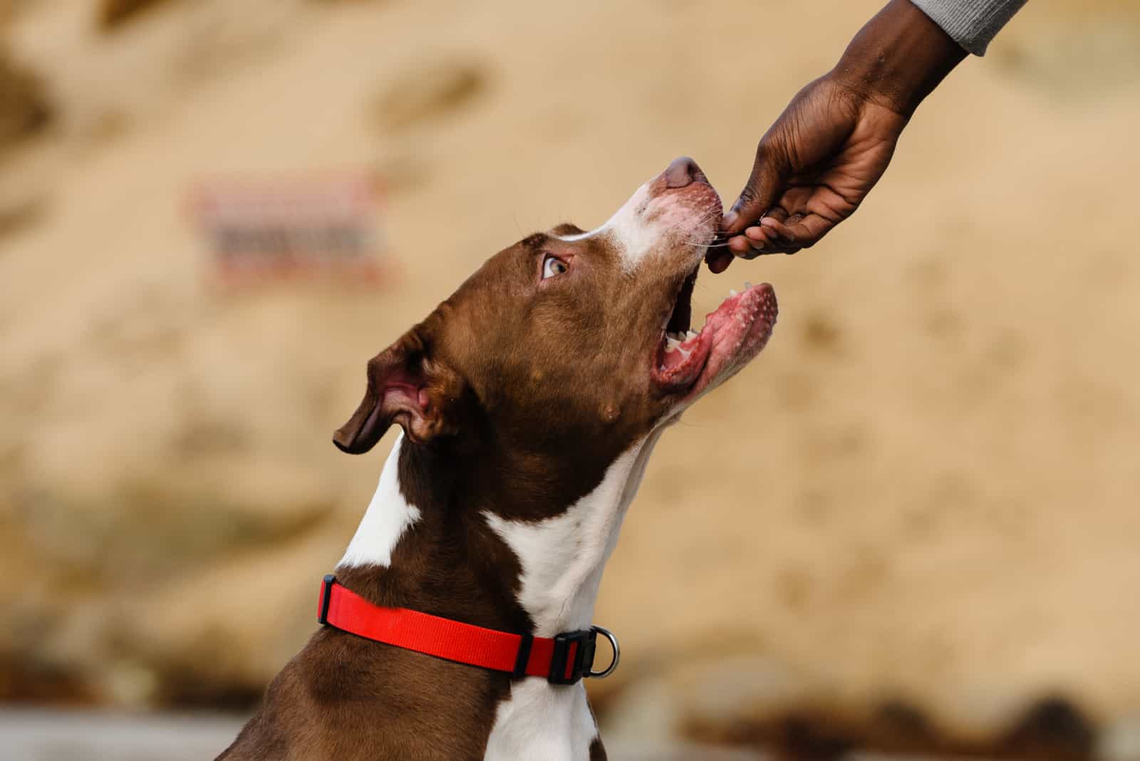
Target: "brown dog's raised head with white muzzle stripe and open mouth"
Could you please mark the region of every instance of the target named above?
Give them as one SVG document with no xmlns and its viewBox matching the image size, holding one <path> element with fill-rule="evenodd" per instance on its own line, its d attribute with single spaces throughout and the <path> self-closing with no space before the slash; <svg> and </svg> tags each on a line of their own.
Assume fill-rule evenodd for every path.
<svg viewBox="0 0 1140 761">
<path fill-rule="evenodd" d="M 397 423 L 413 445 L 604 469 L 772 333 L 768 285 L 731 295 L 690 330 L 720 212 L 697 164 L 678 158 L 596 230 L 562 224 L 495 254 L 368 362 L 364 401 L 334 442 L 366 452 Z"/>
</svg>

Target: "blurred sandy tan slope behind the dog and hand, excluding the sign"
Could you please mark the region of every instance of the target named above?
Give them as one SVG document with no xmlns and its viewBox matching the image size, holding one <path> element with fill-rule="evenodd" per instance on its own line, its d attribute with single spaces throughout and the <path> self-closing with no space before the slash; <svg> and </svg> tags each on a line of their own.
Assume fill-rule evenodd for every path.
<svg viewBox="0 0 1140 761">
<path fill-rule="evenodd" d="M 880 5 L 0 0 L 0 756 L 212 758 L 375 488 L 365 361 L 677 155 L 734 198 Z M 702 272 L 780 325 L 606 571 L 614 756 L 1140 759 L 1138 133 L 1140 6 L 1031 2 L 823 244 Z M 339 177 L 375 277 L 219 283 L 203 187 Z"/>
</svg>

